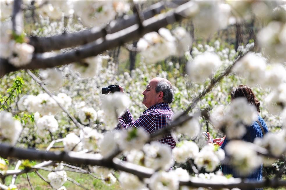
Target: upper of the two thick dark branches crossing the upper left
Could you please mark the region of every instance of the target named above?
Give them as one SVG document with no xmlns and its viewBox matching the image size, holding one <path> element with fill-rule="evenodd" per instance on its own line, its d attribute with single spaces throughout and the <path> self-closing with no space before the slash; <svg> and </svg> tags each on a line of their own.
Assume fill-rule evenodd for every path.
<svg viewBox="0 0 286 190">
<path fill-rule="evenodd" d="M 149 19 L 154 15 L 160 14 L 162 10 L 166 9 L 166 3 L 170 4 L 172 2 L 176 3 L 177 5 L 186 3 L 186 1 L 162 1 L 151 5 L 142 14 L 144 15 L 145 19 Z M 138 16 L 136 14 L 131 16 L 126 15 L 122 19 L 111 21 L 110 24 L 102 28 L 94 27 L 91 30 L 89 29 L 77 33 L 63 33 L 61 35 L 52 37 L 33 36 L 29 38 L 29 44 L 35 47 L 36 53 L 49 52 L 51 50 L 58 50 L 67 47 L 84 45 L 89 42 L 93 42 L 99 38 L 103 38 L 106 33 L 115 33 L 137 23 Z"/>
</svg>

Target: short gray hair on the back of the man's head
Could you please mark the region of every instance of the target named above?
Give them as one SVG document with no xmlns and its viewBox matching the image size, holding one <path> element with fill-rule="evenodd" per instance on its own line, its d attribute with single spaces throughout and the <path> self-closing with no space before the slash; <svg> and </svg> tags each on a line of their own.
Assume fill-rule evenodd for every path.
<svg viewBox="0 0 286 190">
<path fill-rule="evenodd" d="M 174 89 L 170 82 L 167 82 L 165 80 L 159 81 L 156 86 L 156 93 L 159 93 L 160 91 L 163 92 L 163 100 L 165 102 L 168 102 L 168 104 L 170 104 L 174 101 Z"/>
</svg>

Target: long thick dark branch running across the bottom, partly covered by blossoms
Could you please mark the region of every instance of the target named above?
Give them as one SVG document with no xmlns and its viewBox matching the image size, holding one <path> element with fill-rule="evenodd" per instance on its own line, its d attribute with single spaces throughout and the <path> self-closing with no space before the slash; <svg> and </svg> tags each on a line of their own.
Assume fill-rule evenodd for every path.
<svg viewBox="0 0 286 190">
<path fill-rule="evenodd" d="M 138 166 L 132 163 L 120 161 L 118 158 L 114 158 L 113 161 L 106 162 L 104 159 L 98 159 L 93 154 L 77 154 L 75 152 L 44 152 L 33 149 L 22 149 L 14 148 L 13 146 L 1 144 L 0 154 L 2 157 L 16 157 L 19 159 L 49 159 L 54 161 L 66 161 L 70 163 L 77 164 L 89 164 L 97 166 L 105 166 L 113 168 L 116 170 L 121 170 L 125 172 L 132 173 L 142 178 L 149 178 L 154 174 L 154 170 L 150 168 L 145 168 L 143 166 Z M 38 174 L 38 172 L 37 172 Z M 262 182 L 241 182 L 240 179 L 237 179 L 236 182 L 224 183 L 220 182 L 199 182 L 197 180 L 190 181 L 180 181 L 180 185 L 187 185 L 191 187 L 207 187 L 212 189 L 221 189 L 221 188 L 234 188 L 238 187 L 240 189 L 247 188 L 259 188 L 259 187 L 286 187 L 285 180 L 264 180 Z"/>
</svg>

